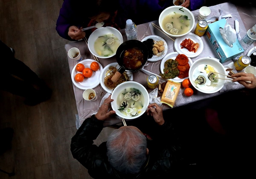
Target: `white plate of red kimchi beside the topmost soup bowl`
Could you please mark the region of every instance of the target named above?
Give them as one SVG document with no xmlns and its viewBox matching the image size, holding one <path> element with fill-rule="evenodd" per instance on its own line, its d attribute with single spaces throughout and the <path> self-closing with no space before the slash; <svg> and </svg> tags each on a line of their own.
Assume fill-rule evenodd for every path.
<svg viewBox="0 0 256 179">
<path fill-rule="evenodd" d="M 189 32 L 175 39 L 174 48 L 178 53 L 193 58 L 203 52 L 204 44 L 200 36 Z"/>
</svg>

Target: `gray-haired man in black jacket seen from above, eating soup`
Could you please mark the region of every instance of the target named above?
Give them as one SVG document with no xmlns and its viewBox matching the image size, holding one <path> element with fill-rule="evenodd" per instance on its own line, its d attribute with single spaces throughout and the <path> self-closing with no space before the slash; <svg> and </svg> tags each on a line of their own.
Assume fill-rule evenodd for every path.
<svg viewBox="0 0 256 179">
<path fill-rule="evenodd" d="M 104 101 L 110 104 L 110 96 Z M 155 106 L 155 108 L 154 108 Z M 108 137 L 107 142 L 93 145 L 103 122 L 115 111 L 102 105 L 96 115 L 87 118 L 71 142 L 71 152 L 95 179 L 105 178 L 177 178 L 188 165 L 171 123 L 163 119 L 162 108 L 156 103 L 148 106 L 146 120 L 154 121 L 155 138 L 147 137 L 135 126 L 122 126 Z M 153 119 L 154 118 L 154 119 Z M 140 120 L 140 119 L 137 119 Z M 183 172 L 182 172 L 183 170 Z"/>
</svg>

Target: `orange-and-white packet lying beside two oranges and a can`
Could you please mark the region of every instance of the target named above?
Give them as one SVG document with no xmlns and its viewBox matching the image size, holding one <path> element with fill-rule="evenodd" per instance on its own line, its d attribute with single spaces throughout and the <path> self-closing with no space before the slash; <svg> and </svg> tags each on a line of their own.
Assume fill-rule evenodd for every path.
<svg viewBox="0 0 256 179">
<path fill-rule="evenodd" d="M 180 83 L 168 80 L 168 82 L 165 85 L 165 90 L 163 91 L 161 103 L 165 103 L 173 107 L 175 100 L 177 99 L 177 96 L 179 94 L 180 86 Z"/>
</svg>

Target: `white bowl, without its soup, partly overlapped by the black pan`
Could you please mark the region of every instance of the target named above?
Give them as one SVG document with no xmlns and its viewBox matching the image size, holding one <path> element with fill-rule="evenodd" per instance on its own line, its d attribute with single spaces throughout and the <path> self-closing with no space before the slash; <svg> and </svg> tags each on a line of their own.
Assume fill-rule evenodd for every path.
<svg viewBox="0 0 256 179">
<path fill-rule="evenodd" d="M 94 42 L 95 42 L 95 40 L 99 36 L 106 35 L 107 33 L 112 33 L 114 36 L 116 36 L 120 40 L 120 44 L 123 43 L 123 36 L 122 36 L 122 34 L 119 32 L 119 30 L 115 29 L 114 27 L 101 27 L 99 29 L 94 30 L 93 33 L 91 33 L 91 35 L 90 35 L 90 37 L 88 39 L 88 49 L 90 50 L 90 52 L 94 56 L 97 56 L 98 58 L 110 58 L 110 57 L 116 55 L 116 53 L 113 53 L 110 56 L 101 56 L 94 49 Z"/>
</svg>

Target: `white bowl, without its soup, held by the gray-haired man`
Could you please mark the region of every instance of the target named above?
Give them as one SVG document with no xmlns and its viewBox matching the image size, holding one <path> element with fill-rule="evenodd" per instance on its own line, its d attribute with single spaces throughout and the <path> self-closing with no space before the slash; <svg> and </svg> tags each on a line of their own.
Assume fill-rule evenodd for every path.
<svg viewBox="0 0 256 179">
<path fill-rule="evenodd" d="M 124 90 L 125 88 L 136 88 L 138 90 L 141 91 L 141 93 L 144 96 L 144 103 L 143 103 L 143 108 L 147 108 L 149 105 L 149 95 L 148 95 L 148 91 L 146 90 L 146 88 L 141 85 L 138 82 L 134 82 L 134 81 L 128 81 L 128 82 L 123 82 L 120 85 L 116 86 L 116 88 L 113 90 L 112 95 L 111 95 L 111 99 L 113 99 L 114 101 L 111 102 L 111 107 L 114 111 L 116 111 L 116 114 L 119 117 L 125 118 L 125 119 L 135 119 L 140 117 L 142 114 L 144 114 L 146 112 L 146 110 L 141 111 L 139 115 L 136 116 L 127 116 L 125 114 L 123 114 L 122 112 L 120 112 L 117 109 L 117 97 L 119 96 L 120 91 Z"/>
</svg>

